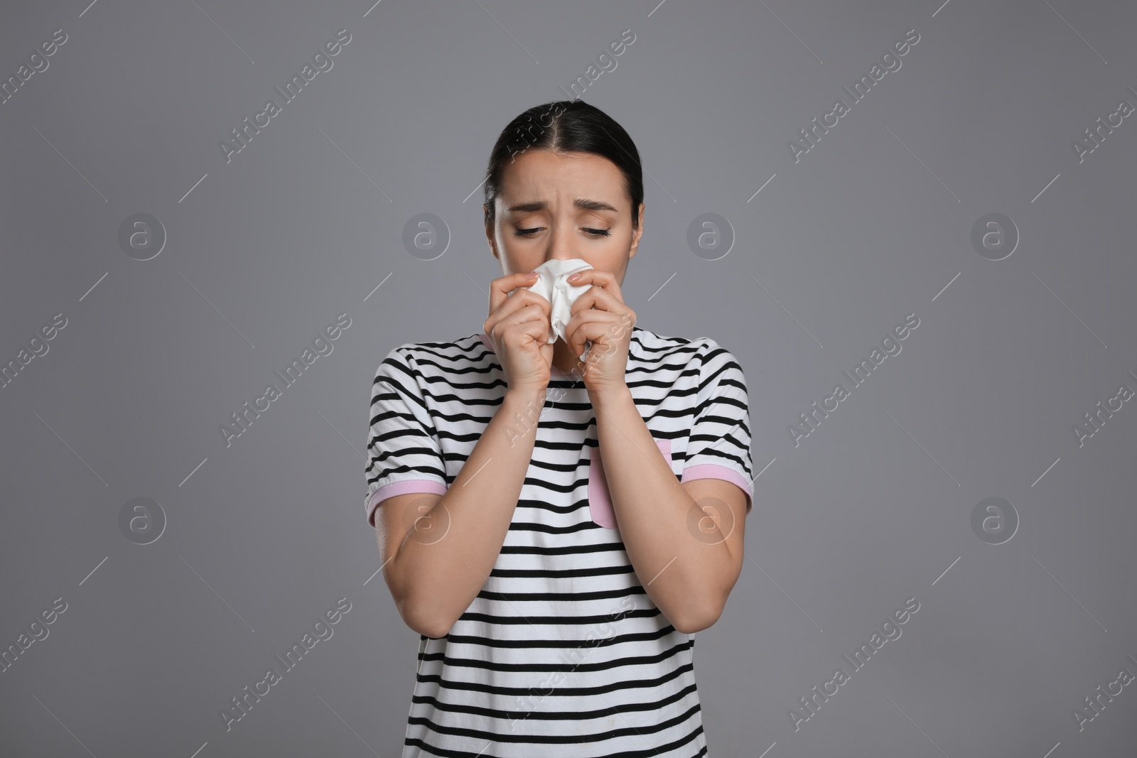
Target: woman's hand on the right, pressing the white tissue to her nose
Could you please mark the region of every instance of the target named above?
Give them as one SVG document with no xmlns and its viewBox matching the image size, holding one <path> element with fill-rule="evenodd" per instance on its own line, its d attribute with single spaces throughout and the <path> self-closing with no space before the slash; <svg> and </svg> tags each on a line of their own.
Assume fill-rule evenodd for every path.
<svg viewBox="0 0 1137 758">
<path fill-rule="evenodd" d="M 568 283 L 592 285 L 573 302 L 572 318 L 565 324 L 565 342 L 576 356 L 572 373 L 583 378 L 590 394 L 625 389 L 628 347 L 636 311 L 624 305 L 620 284 L 609 272 L 587 268 Z M 580 356 L 587 342 L 592 347 L 582 361 Z"/>
</svg>

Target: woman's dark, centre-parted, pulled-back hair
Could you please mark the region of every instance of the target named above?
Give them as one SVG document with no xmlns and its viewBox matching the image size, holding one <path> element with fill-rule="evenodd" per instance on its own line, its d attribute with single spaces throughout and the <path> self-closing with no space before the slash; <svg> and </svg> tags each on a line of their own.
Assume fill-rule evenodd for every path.
<svg viewBox="0 0 1137 758">
<path fill-rule="evenodd" d="M 487 226 L 493 225 L 493 201 L 501 192 L 506 165 L 530 148 L 591 152 L 611 160 L 624 175 L 624 191 L 632 203 L 632 228 L 639 227 L 639 206 L 644 201 L 639 150 L 623 126 L 583 100 L 556 100 L 533 106 L 501 130 L 485 169 Z"/>
</svg>

